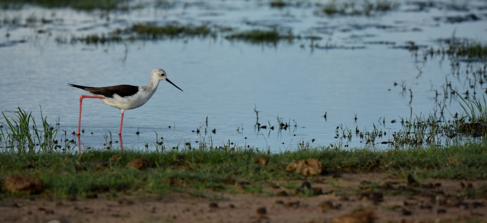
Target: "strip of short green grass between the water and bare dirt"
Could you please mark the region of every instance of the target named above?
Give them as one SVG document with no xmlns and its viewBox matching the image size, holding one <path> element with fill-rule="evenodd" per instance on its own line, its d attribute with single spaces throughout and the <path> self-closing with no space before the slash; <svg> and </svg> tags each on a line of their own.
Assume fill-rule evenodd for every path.
<svg viewBox="0 0 487 223">
<path fill-rule="evenodd" d="M 108 162 L 115 155 L 118 161 Z M 260 166 L 253 157 L 266 156 L 270 163 Z M 145 170 L 126 167 L 134 158 L 151 164 Z M 0 156 L 0 176 L 26 174 L 46 184 L 45 193 L 54 197 L 102 192 L 156 193 L 174 191 L 199 194 L 205 189 L 233 190 L 235 184 L 249 182 L 244 191 L 262 192 L 270 181 L 302 180 L 286 166 L 298 159 L 315 158 L 330 172 L 385 171 L 398 177 L 408 174 L 421 178 L 486 179 L 487 151 L 481 145 L 444 149 L 312 149 L 268 154 L 255 150 L 167 150 L 141 152 L 91 150 L 74 153 L 14 153 Z M 313 177 L 309 178 L 310 180 Z M 12 196 L 6 190 L 0 197 Z"/>
</svg>

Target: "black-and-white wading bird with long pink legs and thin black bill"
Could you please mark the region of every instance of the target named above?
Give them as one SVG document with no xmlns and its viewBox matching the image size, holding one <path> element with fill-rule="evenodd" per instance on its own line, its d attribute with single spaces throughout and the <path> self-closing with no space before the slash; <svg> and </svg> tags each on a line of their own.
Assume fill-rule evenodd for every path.
<svg viewBox="0 0 487 223">
<path fill-rule="evenodd" d="M 98 98 L 103 103 L 112 107 L 120 109 L 122 112 L 120 118 L 120 129 L 118 135 L 122 134 L 123 114 L 125 110 L 135 109 L 144 105 L 157 90 L 159 81 L 165 80 L 172 84 L 177 89 L 183 91 L 181 88 L 172 83 L 166 76 L 166 72 L 161 68 L 153 69 L 150 73 L 150 82 L 147 86 L 132 86 L 132 85 L 116 85 L 109 87 L 86 87 L 75 84 L 68 84 L 68 86 L 83 89 L 92 95 L 81 95 L 79 97 L 79 119 L 78 119 L 78 131 L 76 135 L 79 135 L 79 129 L 81 126 L 81 104 L 83 98 Z"/>
</svg>

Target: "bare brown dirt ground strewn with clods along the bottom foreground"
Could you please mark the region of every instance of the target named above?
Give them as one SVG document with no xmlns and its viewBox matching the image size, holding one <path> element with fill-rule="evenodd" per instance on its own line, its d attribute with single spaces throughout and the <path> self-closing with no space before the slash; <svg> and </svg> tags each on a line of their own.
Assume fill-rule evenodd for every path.
<svg viewBox="0 0 487 223">
<path fill-rule="evenodd" d="M 293 190 L 280 186 L 282 183 L 289 182 L 269 182 L 259 194 L 230 193 L 225 188 L 226 192 L 204 191 L 203 197 L 178 192 L 101 193 L 66 199 L 52 199 L 44 193 L 4 198 L 0 200 L 0 222 L 487 222 L 486 194 L 478 192 L 486 180 L 417 183 L 386 173 L 343 173 L 295 182 L 301 187 Z M 238 191 L 244 186 L 235 187 Z M 306 189 L 315 195 L 295 195 Z"/>
</svg>

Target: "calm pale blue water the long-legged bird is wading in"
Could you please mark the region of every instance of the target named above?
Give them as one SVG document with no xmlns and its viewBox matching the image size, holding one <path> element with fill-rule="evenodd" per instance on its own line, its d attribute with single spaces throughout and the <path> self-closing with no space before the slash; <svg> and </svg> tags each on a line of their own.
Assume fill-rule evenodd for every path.
<svg viewBox="0 0 487 223">
<path fill-rule="evenodd" d="M 154 9 L 149 2 L 130 13 L 114 12 L 109 20 L 99 12 L 69 9 L 29 6 L 3 10 L 0 18 L 21 18 L 21 25 L 4 21 L 0 27 L 0 33 L 10 35 L 0 37 L 0 109 L 20 107 L 33 111 L 40 121 L 41 107 L 48 121 L 54 124 L 59 119 L 59 128 L 66 130 L 68 139 L 74 139 L 71 133 L 77 129 L 78 98 L 85 92 L 67 83 L 147 85 L 150 71 L 163 68 L 184 92 L 161 82 L 147 104 L 126 111 L 124 148 L 144 148 L 146 144 L 154 148 L 156 135 L 164 137 L 169 148 L 201 142 L 271 151 L 298 149 L 300 142 L 371 147 L 358 139 L 347 142 L 335 138 L 335 129 L 372 130 L 384 119 L 385 126 L 380 128 L 392 133 L 402 127 L 391 120 L 408 118 L 409 106 L 413 115 L 433 112 L 435 90 L 441 93 L 446 79 L 459 92 L 468 89 L 468 80 L 452 74 L 448 58 L 435 56 L 424 61 L 423 50 L 414 56 L 394 46 L 413 41 L 438 48 L 437 39 L 452 35 L 485 42 L 485 7 L 478 5 L 485 6 L 485 2 L 468 1 L 468 12 L 448 10 L 446 6 L 418 12 L 410 10 L 414 5 L 402 2 L 399 10 L 374 17 L 326 17 L 317 15 L 319 7 L 311 3 L 275 9 L 263 1 L 175 2 L 169 8 Z M 443 21 L 468 13 L 481 18 L 460 23 Z M 29 16 L 53 22 L 30 24 L 26 22 Z M 58 37 L 107 33 L 137 22 L 164 24 L 174 20 L 241 30 L 277 26 L 322 39 L 312 42 L 301 38 L 277 45 L 229 41 L 222 35 L 107 45 L 56 42 Z M 378 41 L 394 44 L 375 44 Z M 342 48 L 319 48 L 327 45 Z M 394 82 L 399 85 L 394 86 Z M 401 84 L 406 85 L 405 93 Z M 476 91 L 485 95 L 486 86 Z M 446 103 L 451 113 L 461 111 L 458 102 Z M 258 122 L 267 129 L 256 129 L 254 109 L 259 111 Z M 83 145 L 102 148 L 104 135 L 109 132 L 118 140 L 119 119 L 118 109 L 97 99 L 85 99 Z M 289 128 L 278 131 L 278 119 Z M 270 126 L 275 129 L 270 130 Z M 196 133 L 198 129 L 200 133 Z M 211 132 L 213 129 L 216 133 Z"/>
</svg>

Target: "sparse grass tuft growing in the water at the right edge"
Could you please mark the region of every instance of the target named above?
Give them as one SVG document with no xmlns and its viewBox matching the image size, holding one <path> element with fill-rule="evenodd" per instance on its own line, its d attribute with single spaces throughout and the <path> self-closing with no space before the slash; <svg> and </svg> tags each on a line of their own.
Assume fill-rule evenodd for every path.
<svg viewBox="0 0 487 223">
<path fill-rule="evenodd" d="M 453 91 L 453 90 L 451 90 Z M 375 147 L 376 144 L 388 144 L 392 148 L 430 148 L 450 145 L 465 145 L 467 143 L 485 143 L 487 140 L 487 101 L 483 98 L 465 99 L 460 93 L 451 94 L 460 104 L 463 111 L 452 114 L 450 119 L 445 118 L 445 106 L 440 105 L 440 111 L 433 111 L 427 115 L 413 115 L 410 107 L 410 116 L 401 117 L 401 129 L 385 131 L 381 127 L 386 125 L 385 118 L 373 124 L 372 130 L 355 130 L 348 127 L 337 127 L 336 138 L 350 142 L 354 135 L 361 143 Z M 395 120 L 394 120 L 395 122 Z M 340 142 L 341 149 L 347 145 Z"/>
</svg>

